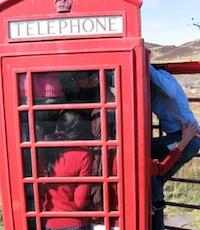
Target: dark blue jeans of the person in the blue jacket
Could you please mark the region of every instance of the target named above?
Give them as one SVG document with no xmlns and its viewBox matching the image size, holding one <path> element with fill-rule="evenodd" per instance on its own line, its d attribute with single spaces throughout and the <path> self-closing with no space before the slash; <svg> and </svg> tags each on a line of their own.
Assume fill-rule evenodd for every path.
<svg viewBox="0 0 200 230">
<path fill-rule="evenodd" d="M 152 141 L 152 157 L 162 159 L 168 152 L 168 145 L 179 142 L 181 133 L 169 134 L 164 137 L 155 138 Z M 163 186 L 186 162 L 191 160 L 200 149 L 200 138 L 195 136 L 184 149 L 181 158 L 174 166 L 163 176 L 152 176 L 152 202 L 161 201 L 164 198 Z M 164 229 L 163 210 L 159 211 L 152 218 L 153 230 Z"/>
</svg>

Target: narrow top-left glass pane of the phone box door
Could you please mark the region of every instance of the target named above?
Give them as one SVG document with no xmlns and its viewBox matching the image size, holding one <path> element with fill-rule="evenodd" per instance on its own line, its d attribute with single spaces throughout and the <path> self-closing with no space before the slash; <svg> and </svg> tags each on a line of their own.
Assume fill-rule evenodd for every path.
<svg viewBox="0 0 200 230">
<path fill-rule="evenodd" d="M 17 74 L 18 85 L 18 104 L 27 105 L 28 103 L 28 81 L 26 73 Z"/>
</svg>

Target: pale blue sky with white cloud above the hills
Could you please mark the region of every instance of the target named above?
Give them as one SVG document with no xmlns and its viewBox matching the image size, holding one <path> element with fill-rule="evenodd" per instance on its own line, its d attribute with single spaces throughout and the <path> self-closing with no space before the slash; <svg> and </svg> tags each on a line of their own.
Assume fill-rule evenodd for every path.
<svg viewBox="0 0 200 230">
<path fill-rule="evenodd" d="M 200 39 L 200 0 L 143 0 L 142 37 L 159 45 Z"/>
</svg>

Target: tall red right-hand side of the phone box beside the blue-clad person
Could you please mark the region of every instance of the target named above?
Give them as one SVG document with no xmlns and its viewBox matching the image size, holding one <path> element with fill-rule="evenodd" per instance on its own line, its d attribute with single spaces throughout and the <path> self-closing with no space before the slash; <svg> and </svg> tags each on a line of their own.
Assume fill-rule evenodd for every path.
<svg viewBox="0 0 200 230">
<path fill-rule="evenodd" d="M 136 101 L 137 103 L 137 142 L 138 142 L 138 216 L 139 228 L 150 229 L 150 82 L 149 82 L 149 62 L 146 51 L 143 47 L 136 50 Z M 140 57 L 140 58 L 139 58 Z M 142 68 L 145 67 L 145 68 Z M 138 89 L 138 90 L 137 90 Z M 143 90 L 139 90 L 143 89 Z"/>
</svg>

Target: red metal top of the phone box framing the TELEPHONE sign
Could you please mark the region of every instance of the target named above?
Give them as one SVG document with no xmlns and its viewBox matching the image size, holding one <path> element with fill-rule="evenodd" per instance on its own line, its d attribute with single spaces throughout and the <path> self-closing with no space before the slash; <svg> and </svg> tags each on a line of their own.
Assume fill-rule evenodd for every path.
<svg viewBox="0 0 200 230">
<path fill-rule="evenodd" d="M 15 4 L 14 4 L 15 3 Z M 40 1 L 6 1 L 1 4 L 1 18 L 0 26 L 3 28 L 4 34 L 0 34 L 0 43 L 7 44 L 8 42 L 8 24 L 9 20 L 30 20 L 31 18 L 57 18 L 57 17 L 77 17 L 84 15 L 113 15 L 114 12 L 124 12 L 124 31 L 127 37 L 140 37 L 140 12 L 139 8 L 142 4 L 141 0 L 134 0 L 129 2 L 119 0 L 85 0 L 84 4 L 80 1 L 74 0 L 71 11 L 67 14 L 58 14 L 53 0 L 46 0 L 45 7 L 41 6 Z M 89 7 L 88 7 L 89 6 Z M 98 7 L 97 7 L 98 6 Z M 26 12 L 24 11 L 26 9 Z"/>
</svg>

